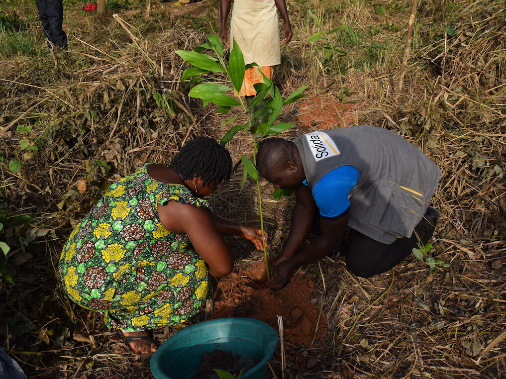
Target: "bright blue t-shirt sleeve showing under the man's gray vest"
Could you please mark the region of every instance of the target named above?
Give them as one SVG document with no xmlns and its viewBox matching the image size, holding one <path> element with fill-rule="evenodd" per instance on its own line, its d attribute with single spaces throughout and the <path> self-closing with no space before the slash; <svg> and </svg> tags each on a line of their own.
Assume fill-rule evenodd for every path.
<svg viewBox="0 0 506 379">
<path fill-rule="evenodd" d="M 355 167 L 346 165 L 325 174 L 313 186 L 313 198 L 320 216 L 327 220 L 343 217 L 350 207 L 349 193 L 357 184 L 359 172 Z M 306 181 L 303 182 L 308 185 Z"/>
</svg>

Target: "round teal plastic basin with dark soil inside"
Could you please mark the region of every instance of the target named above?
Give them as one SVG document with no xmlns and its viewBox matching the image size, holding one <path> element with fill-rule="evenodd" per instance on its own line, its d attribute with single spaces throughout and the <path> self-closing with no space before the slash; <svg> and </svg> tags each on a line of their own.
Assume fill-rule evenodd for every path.
<svg viewBox="0 0 506 379">
<path fill-rule="evenodd" d="M 267 362 L 278 344 L 276 331 L 252 318 L 218 318 L 203 321 L 174 334 L 151 357 L 156 379 L 190 379 L 198 373 L 202 354 L 215 349 L 241 357 L 257 357 L 260 362 L 245 371 L 241 379 L 266 379 Z"/>
</svg>

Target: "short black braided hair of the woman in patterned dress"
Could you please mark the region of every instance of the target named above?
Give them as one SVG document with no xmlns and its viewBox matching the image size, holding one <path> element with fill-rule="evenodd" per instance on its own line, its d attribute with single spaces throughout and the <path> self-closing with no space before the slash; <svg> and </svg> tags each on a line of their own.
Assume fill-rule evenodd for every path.
<svg viewBox="0 0 506 379">
<path fill-rule="evenodd" d="M 183 180 L 197 176 L 204 185 L 228 182 L 232 172 L 230 153 L 209 137 L 197 137 L 187 142 L 174 156 L 171 166 Z"/>
</svg>

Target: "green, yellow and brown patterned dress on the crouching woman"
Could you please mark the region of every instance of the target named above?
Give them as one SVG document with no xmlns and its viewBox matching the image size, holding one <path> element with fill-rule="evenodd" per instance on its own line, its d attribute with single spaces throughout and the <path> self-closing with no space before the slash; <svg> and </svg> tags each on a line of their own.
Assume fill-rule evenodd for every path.
<svg viewBox="0 0 506 379">
<path fill-rule="evenodd" d="M 125 331 L 182 323 L 209 292 L 206 263 L 186 234 L 162 226 L 156 206 L 210 205 L 186 186 L 151 178 L 148 165 L 109 187 L 70 234 L 58 265 L 70 299 Z"/>
</svg>

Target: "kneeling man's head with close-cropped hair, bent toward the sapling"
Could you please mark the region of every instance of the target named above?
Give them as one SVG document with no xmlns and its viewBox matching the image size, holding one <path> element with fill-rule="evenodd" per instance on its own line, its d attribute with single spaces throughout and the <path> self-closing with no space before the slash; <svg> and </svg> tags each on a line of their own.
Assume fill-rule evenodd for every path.
<svg viewBox="0 0 506 379">
<path fill-rule="evenodd" d="M 268 138 L 260 143 L 257 169 L 276 189 L 296 189 L 306 179 L 297 146 L 282 138 Z"/>
</svg>

